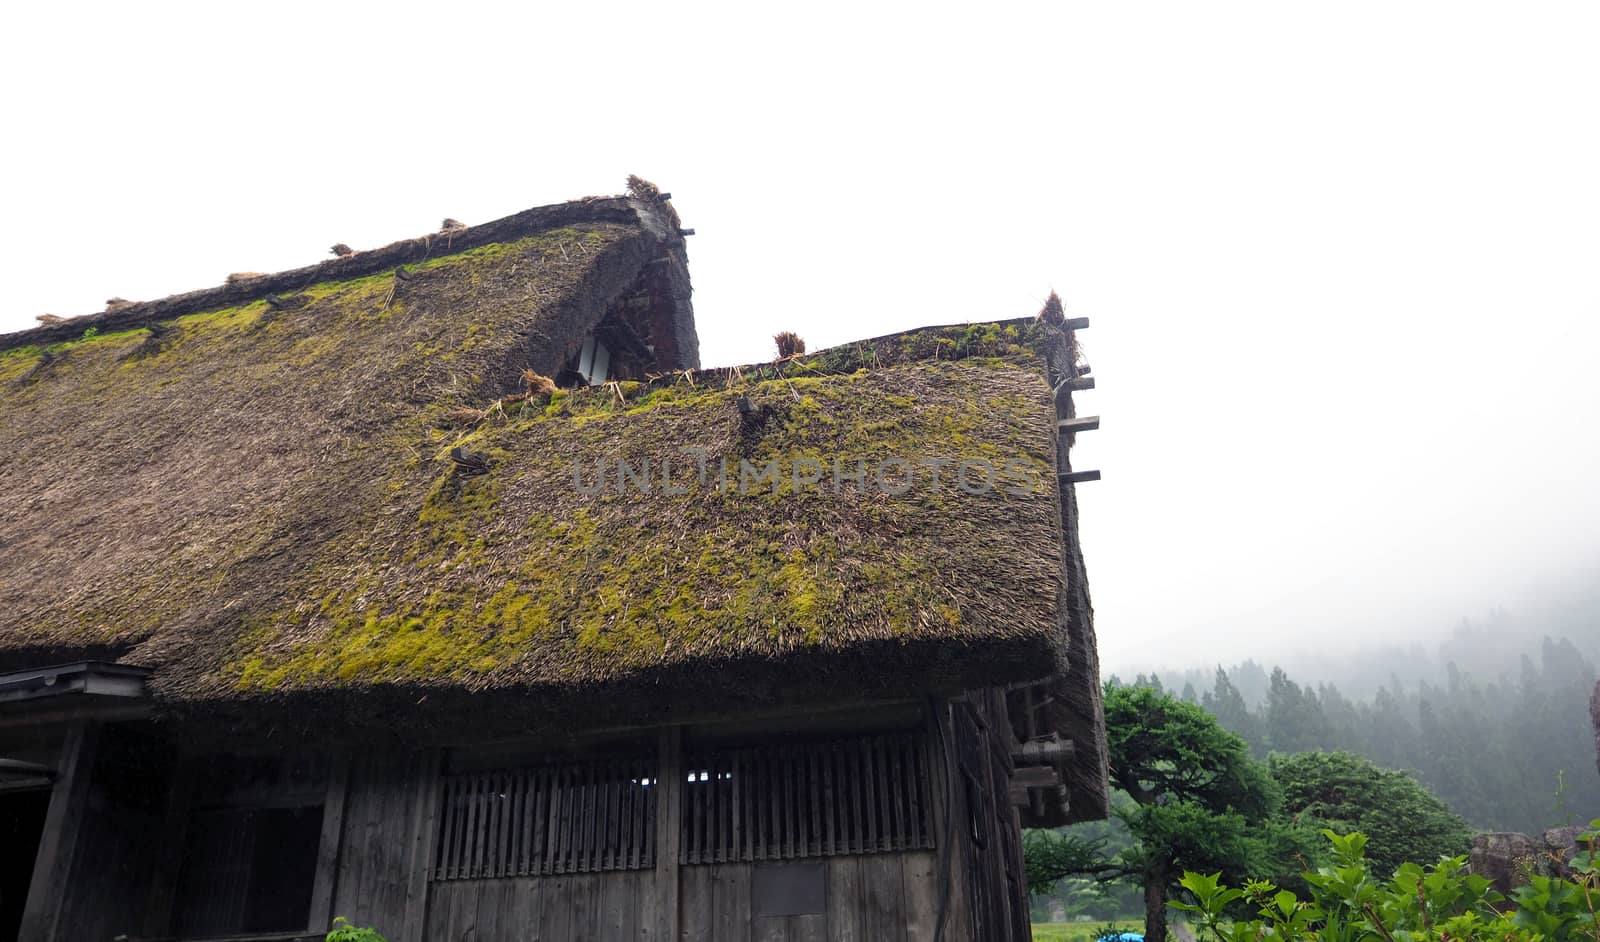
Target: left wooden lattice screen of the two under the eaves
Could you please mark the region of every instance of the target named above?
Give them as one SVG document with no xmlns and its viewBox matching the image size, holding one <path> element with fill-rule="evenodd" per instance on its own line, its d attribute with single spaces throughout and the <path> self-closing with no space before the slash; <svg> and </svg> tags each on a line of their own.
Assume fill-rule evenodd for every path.
<svg viewBox="0 0 1600 942">
<path fill-rule="evenodd" d="M 656 760 L 445 776 L 434 880 L 656 865 Z"/>
</svg>

